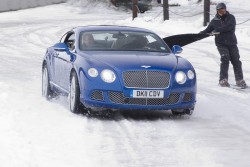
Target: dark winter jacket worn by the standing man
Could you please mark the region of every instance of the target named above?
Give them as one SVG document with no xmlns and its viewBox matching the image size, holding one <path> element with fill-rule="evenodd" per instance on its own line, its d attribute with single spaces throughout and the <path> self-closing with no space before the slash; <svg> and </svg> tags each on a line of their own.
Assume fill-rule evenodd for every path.
<svg viewBox="0 0 250 167">
<path fill-rule="evenodd" d="M 200 33 L 219 32 L 219 35 L 215 35 L 215 44 L 217 46 L 236 45 L 235 27 L 235 17 L 227 11 L 223 16 L 216 14 L 207 28 Z"/>
</svg>

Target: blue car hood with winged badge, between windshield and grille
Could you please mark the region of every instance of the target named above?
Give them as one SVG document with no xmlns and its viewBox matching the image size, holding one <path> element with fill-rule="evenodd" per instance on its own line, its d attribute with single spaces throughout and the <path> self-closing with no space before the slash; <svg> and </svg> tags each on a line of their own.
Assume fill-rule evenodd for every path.
<svg viewBox="0 0 250 167">
<path fill-rule="evenodd" d="M 94 62 L 108 65 L 116 70 L 155 69 L 172 71 L 177 65 L 177 58 L 172 53 L 159 52 L 88 52 L 84 54 Z M 99 64 L 98 63 L 98 64 Z M 144 67 L 143 67 L 144 66 Z M 145 67 L 146 66 L 146 67 Z"/>
</svg>

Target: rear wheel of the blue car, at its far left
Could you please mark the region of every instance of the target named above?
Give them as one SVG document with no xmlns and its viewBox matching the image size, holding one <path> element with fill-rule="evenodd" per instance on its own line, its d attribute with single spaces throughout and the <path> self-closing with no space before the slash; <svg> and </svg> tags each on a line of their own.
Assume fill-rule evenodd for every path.
<svg viewBox="0 0 250 167">
<path fill-rule="evenodd" d="M 47 100 L 52 98 L 52 91 L 49 84 L 48 67 L 46 64 L 43 66 L 42 71 L 42 96 L 45 97 Z"/>
</svg>

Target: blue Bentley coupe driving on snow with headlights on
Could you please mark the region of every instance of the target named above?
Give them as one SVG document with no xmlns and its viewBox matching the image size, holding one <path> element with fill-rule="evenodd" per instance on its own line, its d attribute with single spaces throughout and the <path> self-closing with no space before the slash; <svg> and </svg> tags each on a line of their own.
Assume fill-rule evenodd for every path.
<svg viewBox="0 0 250 167">
<path fill-rule="evenodd" d="M 154 32 L 127 26 L 84 26 L 65 33 L 47 49 L 42 95 L 62 93 L 69 108 L 171 110 L 192 114 L 196 74 L 186 59 Z"/>
</svg>

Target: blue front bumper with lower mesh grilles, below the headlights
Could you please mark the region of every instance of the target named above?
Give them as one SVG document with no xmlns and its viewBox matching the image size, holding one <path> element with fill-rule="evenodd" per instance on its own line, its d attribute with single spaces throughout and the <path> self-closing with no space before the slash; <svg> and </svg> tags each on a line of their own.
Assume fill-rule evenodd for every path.
<svg viewBox="0 0 250 167">
<path fill-rule="evenodd" d="M 196 102 L 196 91 L 172 91 L 168 92 L 164 98 L 133 98 L 119 91 L 85 90 L 80 100 L 86 108 L 92 110 L 193 109 Z"/>
</svg>

